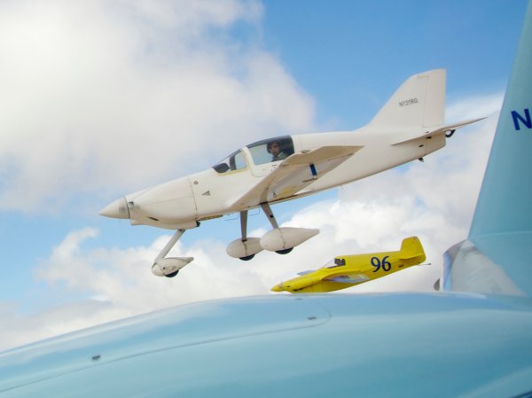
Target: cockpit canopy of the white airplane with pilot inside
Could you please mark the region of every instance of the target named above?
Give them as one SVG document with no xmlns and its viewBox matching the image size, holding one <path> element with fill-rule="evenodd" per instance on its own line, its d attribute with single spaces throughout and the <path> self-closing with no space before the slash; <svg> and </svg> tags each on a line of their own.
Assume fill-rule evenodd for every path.
<svg viewBox="0 0 532 398">
<path fill-rule="evenodd" d="M 246 168 L 246 153 L 251 156 L 255 166 L 275 161 L 285 160 L 293 154 L 293 141 L 290 136 L 274 137 L 249 144 L 237 152 L 231 153 L 224 160 L 219 161 L 213 168 L 218 173 Z"/>
</svg>

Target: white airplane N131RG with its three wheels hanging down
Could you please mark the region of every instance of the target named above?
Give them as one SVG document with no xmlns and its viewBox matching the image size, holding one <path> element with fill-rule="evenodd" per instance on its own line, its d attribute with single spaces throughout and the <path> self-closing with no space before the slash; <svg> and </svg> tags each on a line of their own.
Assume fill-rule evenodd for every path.
<svg viewBox="0 0 532 398">
<path fill-rule="evenodd" d="M 379 113 L 356 131 L 265 139 L 246 145 L 200 173 L 126 195 L 100 215 L 131 225 L 176 230 L 153 262 L 157 276 L 175 277 L 193 257 L 166 255 L 184 230 L 231 213 L 240 214 L 241 238 L 227 253 L 250 260 L 263 249 L 289 253 L 319 230 L 279 228 L 270 204 L 297 199 L 372 176 L 445 146 L 455 129 L 479 121 L 444 123 L 445 70 L 411 76 Z M 247 211 L 261 207 L 273 230 L 247 236 Z"/>
</svg>

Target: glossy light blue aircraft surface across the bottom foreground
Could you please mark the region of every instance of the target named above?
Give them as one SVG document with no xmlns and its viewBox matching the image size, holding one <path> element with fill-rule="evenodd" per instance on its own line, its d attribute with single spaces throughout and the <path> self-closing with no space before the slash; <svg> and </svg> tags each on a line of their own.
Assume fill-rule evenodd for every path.
<svg viewBox="0 0 532 398">
<path fill-rule="evenodd" d="M 4 353 L 0 396 L 513 397 L 532 390 L 530 305 L 450 293 L 198 303 Z"/>
</svg>

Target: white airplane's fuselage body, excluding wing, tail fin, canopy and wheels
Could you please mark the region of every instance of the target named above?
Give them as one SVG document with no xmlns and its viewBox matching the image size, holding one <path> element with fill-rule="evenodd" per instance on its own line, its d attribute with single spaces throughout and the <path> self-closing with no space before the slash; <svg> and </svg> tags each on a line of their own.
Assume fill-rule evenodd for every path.
<svg viewBox="0 0 532 398">
<path fill-rule="evenodd" d="M 403 135 L 417 136 L 419 133 L 422 132 L 405 131 Z M 274 192 L 268 202 L 296 199 L 372 176 L 422 158 L 445 146 L 446 139 L 441 133 L 394 145 L 398 137 L 401 135 L 398 136 L 396 130 L 379 132 L 364 129 L 292 136 L 295 153 L 338 145 L 359 146 L 361 149 L 356 152 L 356 156 L 343 161 L 340 166 L 317 178 L 303 190 L 289 196 L 283 195 L 282 192 L 276 195 Z M 234 200 L 239 198 L 239 194 L 246 190 L 246 187 L 253 187 L 269 176 L 283 160 L 255 165 L 247 147 L 242 148 L 241 153 L 246 161 L 244 168 L 225 173 L 208 168 L 200 173 L 126 195 L 132 225 L 144 224 L 169 230 L 186 230 L 196 227 L 197 222 L 203 220 L 259 207 L 259 199 L 246 205 L 240 205 Z M 312 177 L 310 171 L 309 177 Z"/>
</svg>

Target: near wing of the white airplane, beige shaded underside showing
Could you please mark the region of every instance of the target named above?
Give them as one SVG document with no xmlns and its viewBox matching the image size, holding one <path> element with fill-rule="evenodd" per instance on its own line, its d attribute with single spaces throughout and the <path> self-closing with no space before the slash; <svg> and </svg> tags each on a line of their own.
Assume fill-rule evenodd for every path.
<svg viewBox="0 0 532 398">
<path fill-rule="evenodd" d="M 235 200 L 233 205 L 254 207 L 290 198 L 310 183 L 348 160 L 362 146 L 322 146 L 289 156 L 269 176 Z"/>
</svg>

